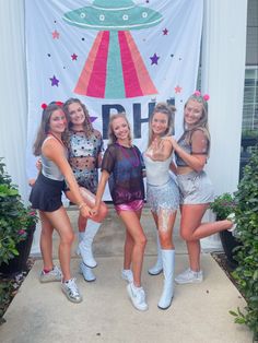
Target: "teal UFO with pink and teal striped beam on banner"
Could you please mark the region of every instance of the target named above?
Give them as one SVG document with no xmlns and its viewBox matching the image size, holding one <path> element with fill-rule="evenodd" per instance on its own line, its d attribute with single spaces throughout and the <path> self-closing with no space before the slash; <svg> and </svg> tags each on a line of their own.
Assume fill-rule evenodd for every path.
<svg viewBox="0 0 258 343">
<path fill-rule="evenodd" d="M 162 15 L 131 0 L 95 0 L 64 13 L 63 20 L 99 31 L 77 82 L 74 93 L 97 98 L 127 98 L 156 94 L 140 51 L 130 34 L 157 25 Z"/>
</svg>

